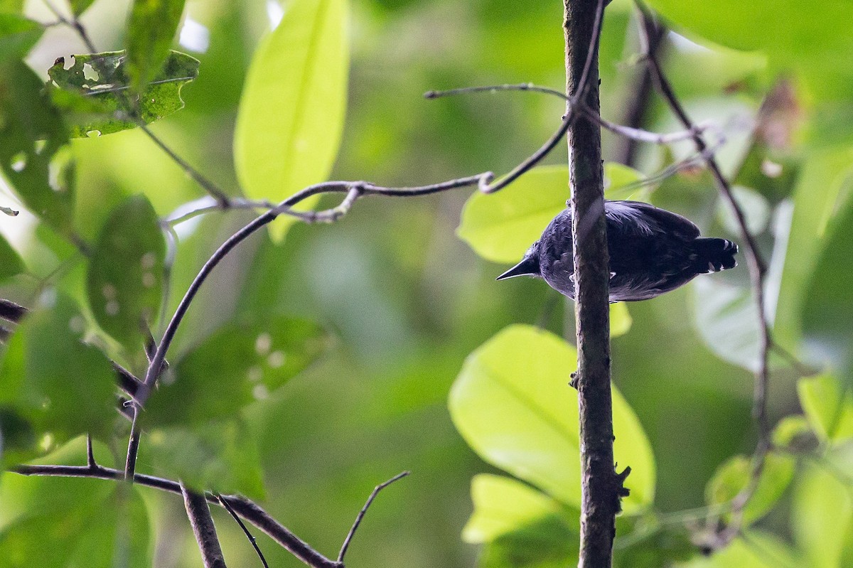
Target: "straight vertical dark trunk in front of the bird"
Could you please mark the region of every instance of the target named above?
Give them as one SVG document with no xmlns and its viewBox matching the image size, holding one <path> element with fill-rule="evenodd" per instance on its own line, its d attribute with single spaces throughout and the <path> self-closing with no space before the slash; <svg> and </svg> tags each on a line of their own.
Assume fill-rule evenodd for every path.
<svg viewBox="0 0 853 568">
<path fill-rule="evenodd" d="M 564 0 L 566 90 L 599 113 L 598 31 L 603 0 Z M 581 544 L 578 566 L 612 563 L 623 476 L 613 464 L 610 390 L 610 264 L 604 216 L 601 130 L 579 117 L 568 130 L 576 278 L 577 391 L 580 407 Z"/>
</svg>

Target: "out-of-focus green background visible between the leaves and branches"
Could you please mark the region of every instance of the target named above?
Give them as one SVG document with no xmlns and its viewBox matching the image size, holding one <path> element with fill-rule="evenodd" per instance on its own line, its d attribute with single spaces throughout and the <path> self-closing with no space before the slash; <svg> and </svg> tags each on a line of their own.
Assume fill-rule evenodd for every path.
<svg viewBox="0 0 853 568">
<path fill-rule="evenodd" d="M 98 49 L 121 49 L 127 7 L 122 0 L 98 0 L 85 12 L 82 21 Z M 27 3 L 27 14 L 52 18 L 38 1 Z M 234 195 L 240 190 L 232 141 L 243 80 L 253 49 L 280 15 L 276 0 L 188 1 L 175 49 L 197 57 L 200 74 L 183 89 L 186 107 L 152 125 L 177 153 Z M 563 89 L 562 17 L 556 1 L 352 2 L 348 109 L 331 178 L 394 186 L 510 170 L 559 125 L 562 101 L 535 93 L 435 101 L 422 95 L 526 82 Z M 664 35 L 661 57 L 693 117 L 714 119 L 725 132 L 723 170 L 749 179 L 743 182 L 749 189 L 739 191 L 759 244 L 766 258 L 784 264 L 785 246 L 775 246 L 786 230 L 776 230 L 784 224 L 779 206 L 797 183 L 794 158 L 804 143 L 798 117 L 802 100 L 814 94 L 802 83 L 780 82 L 759 53 L 686 35 Z M 638 50 L 635 11 L 629 2 L 614 0 L 601 38 L 603 116 L 649 130 L 678 130 L 643 85 Z M 46 78 L 56 57 L 82 51 L 72 31 L 55 27 L 27 61 Z M 772 123 L 776 137 L 752 136 L 771 90 L 782 101 L 775 107 L 781 118 Z M 110 208 L 127 195 L 146 194 L 160 216 L 202 196 L 138 130 L 76 140 L 73 149 L 77 227 L 84 238 L 94 238 Z M 629 149 L 624 140 L 604 136 L 607 161 L 627 162 L 648 175 L 690 150 Z M 565 162 L 565 144 L 546 160 Z M 762 175 L 768 163 L 781 173 Z M 478 548 L 460 539 L 472 512 L 470 479 L 496 469 L 468 449 L 451 423 L 450 385 L 466 356 L 510 323 L 544 322 L 554 333 L 574 335 L 571 302 L 554 303 L 543 281 L 496 282 L 507 266 L 486 262 L 457 238 L 469 194 L 461 189 L 419 199 L 368 198 L 339 223 L 293 226 L 281 243 L 265 232 L 252 237 L 215 271 L 173 348 L 179 358 L 237 316 L 306 316 L 328 329 L 334 343 L 328 354 L 252 404 L 245 416 L 258 443 L 264 507 L 324 554 L 334 556 L 374 485 L 412 472 L 374 502 L 348 553 L 351 566 L 475 564 Z M 651 199 L 687 215 L 703 233 L 738 241 L 704 171 L 664 179 Z M 250 218 L 246 212 L 215 212 L 180 226 L 172 309 L 200 265 Z M 33 237 L 34 227 L 22 212 L 14 221 L 4 219 L 0 230 L 26 253 L 35 274 L 46 275 L 55 258 Z M 701 506 L 705 483 L 718 465 L 751 453 L 756 441 L 749 370 L 756 339 L 746 322 L 748 298 L 726 312 L 734 319 L 702 319 L 697 309 L 717 298 L 713 288 L 721 281 L 746 287 L 746 263 L 713 279 L 630 304 L 633 327 L 613 340 L 613 381 L 650 439 L 660 512 Z M 20 281 L 6 288 L 21 301 L 34 293 Z M 799 411 L 796 378 L 776 365 L 771 420 Z M 162 473 L 144 455 L 139 467 Z M 152 526 L 160 535 L 154 565 L 198 565 L 182 503 L 151 494 Z M 789 533 L 786 507 L 763 521 L 783 537 Z M 257 563 L 239 528 L 221 511 L 214 516 L 229 563 Z M 265 536 L 258 542 L 270 565 L 300 565 Z"/>
</svg>

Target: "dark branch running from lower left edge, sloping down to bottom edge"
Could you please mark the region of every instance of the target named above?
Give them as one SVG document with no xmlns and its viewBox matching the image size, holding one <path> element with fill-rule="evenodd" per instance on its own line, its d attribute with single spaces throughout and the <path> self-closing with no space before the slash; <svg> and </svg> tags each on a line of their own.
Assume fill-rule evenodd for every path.
<svg viewBox="0 0 853 568">
<path fill-rule="evenodd" d="M 111 467 L 102 467 L 96 463 L 88 466 L 17 466 L 12 468 L 11 471 L 20 473 L 21 475 L 63 478 L 95 478 L 115 481 L 125 478 L 125 472 Z M 154 489 L 181 495 L 181 485 L 171 479 L 137 473 L 133 481 L 145 487 L 153 487 Z M 209 503 L 219 504 L 217 496 L 211 493 L 205 493 L 205 498 Z M 258 529 L 263 530 L 267 536 L 270 536 L 270 538 L 283 548 L 287 548 L 291 554 L 302 562 L 305 562 L 305 564 L 312 568 L 341 568 L 342 565 L 318 553 L 308 543 L 300 539 L 299 536 L 294 535 L 284 525 L 273 519 L 270 513 L 267 513 L 252 501 L 240 496 L 221 496 L 220 498 L 227 501 L 236 514 L 252 523 Z"/>
</svg>

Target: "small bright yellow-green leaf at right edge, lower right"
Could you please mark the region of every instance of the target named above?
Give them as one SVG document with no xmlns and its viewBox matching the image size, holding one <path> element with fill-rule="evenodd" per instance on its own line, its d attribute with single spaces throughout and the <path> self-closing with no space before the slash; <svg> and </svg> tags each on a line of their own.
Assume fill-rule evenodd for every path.
<svg viewBox="0 0 853 568">
<path fill-rule="evenodd" d="M 828 442 L 853 438 L 853 392 L 831 374 L 800 379 L 800 406 L 815 434 Z"/>
</svg>

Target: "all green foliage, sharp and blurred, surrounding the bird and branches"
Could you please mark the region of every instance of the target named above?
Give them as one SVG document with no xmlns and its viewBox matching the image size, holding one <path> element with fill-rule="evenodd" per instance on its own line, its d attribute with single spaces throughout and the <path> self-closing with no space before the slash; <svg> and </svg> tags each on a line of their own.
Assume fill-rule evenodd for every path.
<svg viewBox="0 0 853 568">
<path fill-rule="evenodd" d="M 41 0 L 0 0 L 0 206 L 20 210 L 0 217 L 0 297 L 32 308 L 3 322 L 6 468 L 36 457 L 82 464 L 75 437 L 84 432 L 101 463 L 123 465 L 128 425 L 108 358 L 144 372 L 140 324 L 160 337 L 200 266 L 252 217 L 211 212 L 161 232 L 172 212 L 212 200 L 196 201 L 202 190 L 139 129 L 113 128 L 133 125 L 123 113 L 150 122 L 226 194 L 281 200 L 327 178 L 500 176 L 565 112 L 536 93 L 421 98 L 474 84 L 559 89 L 560 3 L 55 4 L 62 18 L 82 14 L 101 53 L 85 53 Z M 662 44 L 665 68 L 693 119 L 715 125 L 705 136 L 722 143 L 717 158 L 769 261 L 764 310 L 784 351 L 771 359 L 775 448 L 746 528 L 706 557 L 699 545 L 730 520 L 756 439 L 757 307 L 746 263 L 614 306 L 617 456 L 620 469 L 632 467 L 616 564 L 850 565 L 850 6 L 649 4 L 675 30 Z M 608 5 L 601 105 L 616 122 L 644 97 L 637 29 L 629 2 Z M 104 87 L 96 62 L 124 48 L 131 70 Z M 118 90 L 96 105 L 87 85 Z M 138 101 L 116 94 L 128 87 Z M 640 102 L 641 126 L 679 129 L 657 97 Z M 69 139 L 90 130 L 110 136 Z M 690 142 L 643 144 L 628 165 L 618 164 L 623 139 L 606 132 L 603 142 L 608 197 L 650 200 L 740 241 L 705 171 L 658 175 L 694 154 Z M 565 161 L 554 151 L 493 196 L 360 200 L 334 225 L 296 223 L 282 241 L 287 221 L 278 221 L 275 241 L 262 233 L 241 244 L 178 330 L 171 368 L 142 414 L 139 471 L 263 496 L 284 525 L 332 555 L 369 490 L 409 469 L 374 502 L 348 565 L 573 564 L 577 407 L 566 385 L 573 348 L 559 339 L 573 336 L 572 304 L 555 304 L 541 281 L 495 282 L 503 267 L 491 264 L 517 260 L 560 211 Z M 150 251 L 156 274 L 145 271 Z M 133 306 L 118 323 L 107 281 L 124 294 L 119 307 Z M 496 385 L 512 396 L 496 396 L 506 395 Z M 214 515 L 229 563 L 257 562 L 239 528 Z M 258 542 L 270 565 L 300 565 Z M 197 562 L 173 496 L 0 477 L 0 566 Z"/>
</svg>

